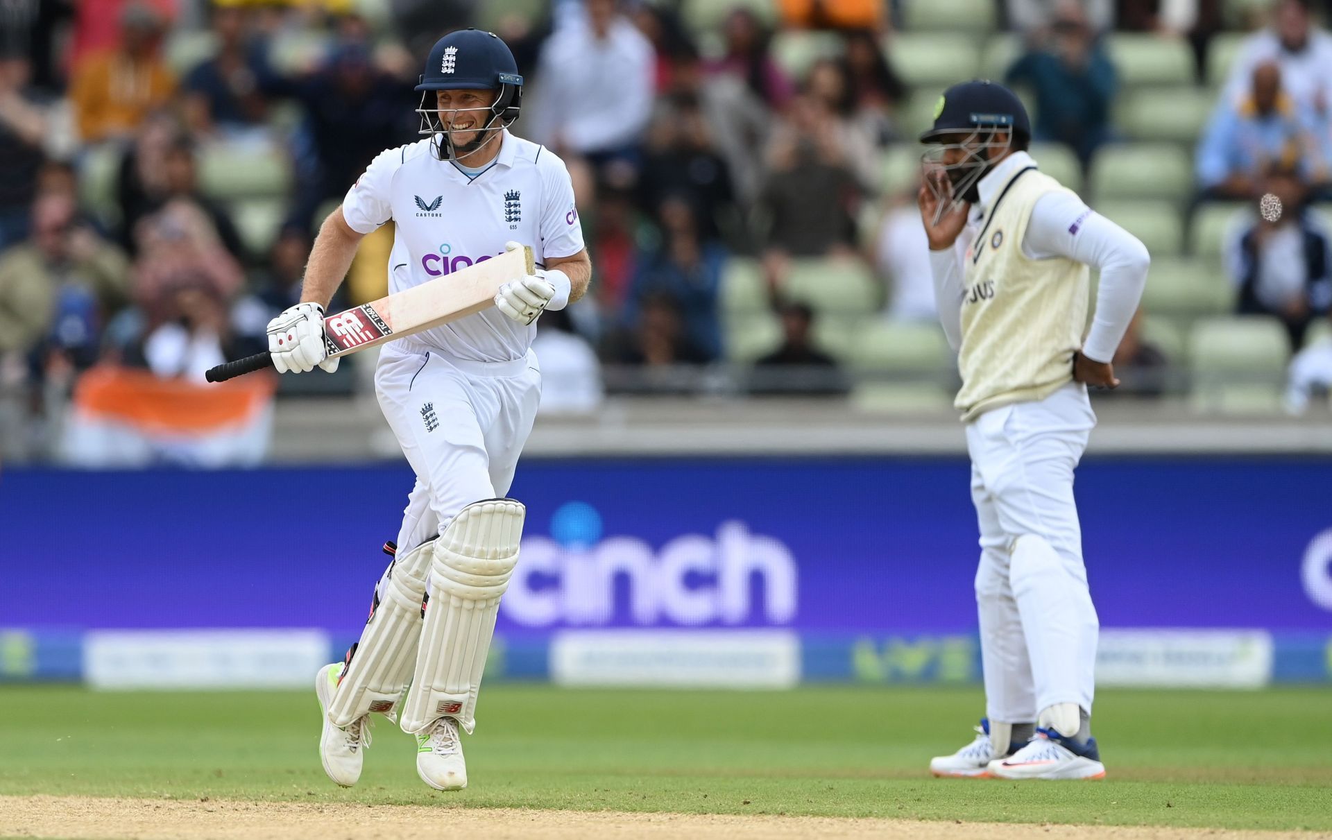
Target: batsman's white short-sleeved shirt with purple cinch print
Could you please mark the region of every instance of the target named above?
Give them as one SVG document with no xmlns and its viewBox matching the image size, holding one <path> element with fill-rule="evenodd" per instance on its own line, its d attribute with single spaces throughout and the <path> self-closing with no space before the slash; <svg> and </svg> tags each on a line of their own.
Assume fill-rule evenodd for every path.
<svg viewBox="0 0 1332 840">
<path fill-rule="evenodd" d="M 429 138 L 381 152 L 348 190 L 342 217 L 357 233 L 394 222 L 389 293 L 500 256 L 510 240 L 531 245 L 538 266 L 583 248 L 565 162 L 507 130 L 500 154 L 473 178 L 437 158 Z M 535 325 L 486 309 L 389 342 L 384 351 L 424 345 L 460 359 L 507 362 L 522 358 L 535 334 Z"/>
</svg>

